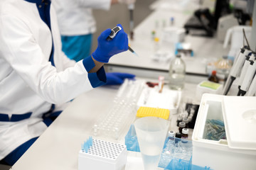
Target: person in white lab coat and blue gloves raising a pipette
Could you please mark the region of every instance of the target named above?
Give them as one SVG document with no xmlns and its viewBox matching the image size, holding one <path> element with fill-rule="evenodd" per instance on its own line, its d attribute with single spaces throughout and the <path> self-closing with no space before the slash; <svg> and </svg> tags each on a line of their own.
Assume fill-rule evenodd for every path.
<svg viewBox="0 0 256 170">
<path fill-rule="evenodd" d="M 95 52 L 76 63 L 61 50 L 50 0 L 0 1 L 1 161 L 13 165 L 52 123 L 62 103 L 105 84 L 102 66 L 128 49 L 123 29 L 108 41 L 110 32 L 103 31 Z"/>
</svg>

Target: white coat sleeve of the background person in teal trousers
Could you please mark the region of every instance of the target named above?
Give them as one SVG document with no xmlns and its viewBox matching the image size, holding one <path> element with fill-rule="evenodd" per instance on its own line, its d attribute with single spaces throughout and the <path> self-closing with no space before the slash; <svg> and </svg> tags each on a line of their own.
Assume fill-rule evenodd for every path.
<svg viewBox="0 0 256 170">
<path fill-rule="evenodd" d="M 109 10 L 111 0 L 76 0 L 79 6 L 86 8 L 105 9 Z"/>
</svg>

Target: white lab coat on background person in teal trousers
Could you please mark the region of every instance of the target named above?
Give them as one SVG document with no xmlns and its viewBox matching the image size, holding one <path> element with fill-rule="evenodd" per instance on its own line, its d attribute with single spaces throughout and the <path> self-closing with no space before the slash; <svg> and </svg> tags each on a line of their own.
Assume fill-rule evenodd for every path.
<svg viewBox="0 0 256 170">
<path fill-rule="evenodd" d="M 110 9 L 111 0 L 53 0 L 61 35 L 95 33 L 96 22 L 92 8 Z"/>
</svg>

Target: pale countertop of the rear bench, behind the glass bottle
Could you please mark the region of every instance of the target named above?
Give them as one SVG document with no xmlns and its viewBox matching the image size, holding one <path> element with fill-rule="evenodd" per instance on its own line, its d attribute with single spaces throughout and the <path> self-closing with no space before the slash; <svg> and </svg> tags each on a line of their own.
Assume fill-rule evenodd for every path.
<svg viewBox="0 0 256 170">
<path fill-rule="evenodd" d="M 183 28 L 184 23 L 186 23 L 191 15 L 191 11 L 153 11 L 134 29 L 134 40 L 130 40 L 129 42 L 130 47 L 137 52 L 138 56 L 133 55 L 129 51 L 122 52 L 112 57 L 107 65 L 110 67 L 127 67 L 131 69 L 168 72 L 170 62 L 156 62 L 151 59 L 154 54 L 154 41 L 151 38 L 151 32 L 152 30 L 156 30 L 156 22 L 158 22 L 158 29 L 160 29 L 159 31 L 156 30 L 156 33 L 161 33 L 163 24 L 166 27 Z M 172 26 L 170 26 L 171 17 L 175 18 Z M 219 42 L 217 38 L 186 35 L 184 42 L 186 45 L 190 45 L 194 53 L 193 57 L 183 58 L 186 63 L 186 73 L 188 74 L 206 75 L 206 64 L 208 62 L 228 54 L 228 48 L 223 49 L 223 42 Z M 166 46 L 166 43 L 161 42 L 161 47 L 164 46 Z"/>
</svg>

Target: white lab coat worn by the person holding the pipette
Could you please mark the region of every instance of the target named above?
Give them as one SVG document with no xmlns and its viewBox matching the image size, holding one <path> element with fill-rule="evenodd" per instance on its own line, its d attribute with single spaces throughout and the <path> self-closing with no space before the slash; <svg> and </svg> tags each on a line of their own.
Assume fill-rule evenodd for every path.
<svg viewBox="0 0 256 170">
<path fill-rule="evenodd" d="M 0 160 L 19 145 L 46 130 L 42 115 L 51 103 L 60 104 L 92 89 L 82 61 L 75 63 L 61 51 L 53 6 L 50 29 L 36 4 L 23 0 L 0 1 L 0 113 L 32 112 L 18 122 L 0 121 Z M 55 67 L 49 60 L 54 43 Z"/>
</svg>

